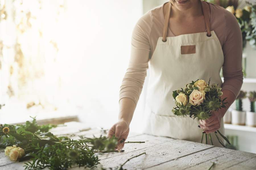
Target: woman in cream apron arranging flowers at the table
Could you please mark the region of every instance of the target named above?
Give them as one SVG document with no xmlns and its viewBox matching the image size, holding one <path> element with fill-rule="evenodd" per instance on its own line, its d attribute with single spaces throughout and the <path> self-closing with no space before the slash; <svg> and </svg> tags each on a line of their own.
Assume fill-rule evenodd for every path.
<svg viewBox="0 0 256 170">
<path fill-rule="evenodd" d="M 117 149 L 123 148 L 148 66 L 146 134 L 201 142 L 202 132 L 223 133 L 226 109 L 200 122 L 176 117 L 172 91 L 192 80 L 211 78 L 211 83 L 222 87 L 228 108 L 243 83 L 241 60 L 241 30 L 235 16 L 224 8 L 202 0 L 170 0 L 148 11 L 133 30 L 131 58 L 120 89 L 119 121 L 108 137 L 115 135 Z M 213 142 L 221 147 L 216 138 Z"/>
</svg>

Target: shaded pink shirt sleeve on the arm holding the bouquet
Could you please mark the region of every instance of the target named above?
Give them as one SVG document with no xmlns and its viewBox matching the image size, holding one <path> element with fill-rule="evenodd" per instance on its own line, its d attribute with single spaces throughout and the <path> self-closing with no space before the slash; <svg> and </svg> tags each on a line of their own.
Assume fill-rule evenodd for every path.
<svg viewBox="0 0 256 170">
<path fill-rule="evenodd" d="M 236 17 L 228 10 L 225 11 L 225 20 L 226 40 L 222 46 L 224 54 L 222 89 L 231 91 L 237 97 L 243 84 L 242 33 Z"/>
</svg>

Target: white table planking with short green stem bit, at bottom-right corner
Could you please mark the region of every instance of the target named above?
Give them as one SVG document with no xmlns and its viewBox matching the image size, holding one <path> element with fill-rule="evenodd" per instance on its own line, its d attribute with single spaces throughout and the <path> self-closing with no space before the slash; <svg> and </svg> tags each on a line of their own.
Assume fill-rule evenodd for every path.
<svg viewBox="0 0 256 170">
<path fill-rule="evenodd" d="M 256 158 L 256 154 L 234 150 L 233 152 L 230 152 L 223 156 L 219 156 L 217 158 L 208 160 L 207 162 L 200 163 L 197 166 L 186 168 L 186 170 L 205 170 L 209 168 L 213 162 L 215 163 L 215 165 L 212 168 L 212 170 L 216 170 L 216 169 L 218 170 L 232 169 L 233 170 L 236 165 L 240 166 L 238 164 L 249 161 L 252 158 Z M 251 161 L 255 161 L 255 160 L 252 159 Z M 256 162 L 254 162 L 254 164 L 256 164 Z M 245 168 L 246 167 L 243 167 L 238 170 L 244 170 Z"/>
</svg>

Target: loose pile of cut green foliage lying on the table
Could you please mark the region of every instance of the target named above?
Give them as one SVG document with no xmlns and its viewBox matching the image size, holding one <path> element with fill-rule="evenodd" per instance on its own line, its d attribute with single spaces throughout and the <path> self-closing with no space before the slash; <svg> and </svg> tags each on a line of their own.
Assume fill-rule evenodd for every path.
<svg viewBox="0 0 256 170">
<path fill-rule="evenodd" d="M 19 161 L 30 160 L 25 163 L 25 169 L 67 169 L 73 165 L 94 167 L 99 163 L 96 153 L 117 152 L 117 139 L 107 137 L 85 138 L 78 140 L 67 137 L 56 137 L 49 129 L 56 125 L 36 124 L 36 119 L 27 121 L 24 125 L 0 126 L 0 147 L 15 145 L 24 149 L 26 156 Z M 44 132 L 44 133 L 42 133 Z M 6 149 L 7 150 L 7 149 Z"/>
</svg>

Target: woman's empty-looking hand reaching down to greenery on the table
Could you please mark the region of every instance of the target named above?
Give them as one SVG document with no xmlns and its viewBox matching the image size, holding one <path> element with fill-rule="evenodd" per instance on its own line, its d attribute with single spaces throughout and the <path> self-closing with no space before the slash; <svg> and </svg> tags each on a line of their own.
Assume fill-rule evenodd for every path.
<svg viewBox="0 0 256 170">
<path fill-rule="evenodd" d="M 125 120 L 119 120 L 109 130 L 107 137 L 115 137 L 118 139 L 117 150 L 121 150 L 124 146 L 125 140 L 129 134 L 129 124 Z"/>
</svg>

